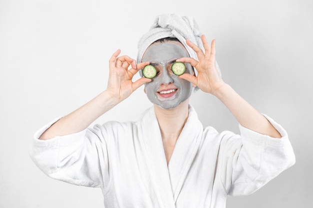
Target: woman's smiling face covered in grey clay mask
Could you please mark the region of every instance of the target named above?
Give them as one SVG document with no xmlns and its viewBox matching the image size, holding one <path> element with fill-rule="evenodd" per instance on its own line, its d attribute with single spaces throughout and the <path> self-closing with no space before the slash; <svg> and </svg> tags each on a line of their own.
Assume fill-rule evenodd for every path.
<svg viewBox="0 0 313 208">
<path fill-rule="evenodd" d="M 177 41 L 155 43 L 150 45 L 142 57 L 142 62 L 150 62 L 157 71 L 151 82 L 144 86 L 148 99 L 163 109 L 171 109 L 189 98 L 192 84 L 184 79 L 179 79 L 171 71 L 171 65 L 176 59 L 189 57 L 184 46 Z M 190 64 L 185 63 L 184 73 L 192 74 Z"/>
</svg>

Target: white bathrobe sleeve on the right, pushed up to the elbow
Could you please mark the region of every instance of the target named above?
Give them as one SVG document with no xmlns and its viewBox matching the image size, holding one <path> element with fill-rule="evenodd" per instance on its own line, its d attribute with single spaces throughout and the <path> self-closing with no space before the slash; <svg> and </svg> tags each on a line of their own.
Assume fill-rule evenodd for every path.
<svg viewBox="0 0 313 208">
<path fill-rule="evenodd" d="M 221 183 L 227 195 L 249 195 L 295 163 L 286 131 L 264 115 L 282 138 L 272 138 L 242 127 L 240 135 L 223 133 Z"/>
</svg>

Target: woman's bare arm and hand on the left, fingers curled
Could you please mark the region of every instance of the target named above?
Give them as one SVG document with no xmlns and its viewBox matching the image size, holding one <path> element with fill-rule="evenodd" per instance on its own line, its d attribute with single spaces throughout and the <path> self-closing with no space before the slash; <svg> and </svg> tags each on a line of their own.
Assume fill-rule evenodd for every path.
<svg viewBox="0 0 313 208">
<path fill-rule="evenodd" d="M 126 55 L 117 57 L 119 53 L 120 50 L 117 50 L 109 60 L 109 77 L 106 90 L 55 122 L 39 137 L 40 140 L 82 131 L 99 116 L 127 98 L 142 84 L 151 81 L 143 77 L 132 82 L 133 75 L 148 62 L 136 65 L 135 60 Z M 131 68 L 128 69 L 130 65 Z"/>
</svg>

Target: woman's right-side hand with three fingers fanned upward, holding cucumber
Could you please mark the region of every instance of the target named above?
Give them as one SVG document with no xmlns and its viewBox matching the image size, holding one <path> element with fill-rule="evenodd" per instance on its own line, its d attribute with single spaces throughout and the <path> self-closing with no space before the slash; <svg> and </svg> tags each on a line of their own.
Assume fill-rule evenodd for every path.
<svg viewBox="0 0 313 208">
<path fill-rule="evenodd" d="M 199 61 L 190 57 L 179 58 L 176 60 L 189 63 L 191 66 L 195 67 L 198 71 L 197 76 L 185 73 L 180 75 L 179 78 L 191 82 L 203 92 L 216 94 L 218 89 L 224 85 L 224 82 L 215 66 L 215 40 L 212 40 L 211 46 L 209 46 L 204 35 L 201 35 L 201 40 L 205 52 L 189 40 L 186 41 L 187 45 L 196 52 Z"/>
</svg>

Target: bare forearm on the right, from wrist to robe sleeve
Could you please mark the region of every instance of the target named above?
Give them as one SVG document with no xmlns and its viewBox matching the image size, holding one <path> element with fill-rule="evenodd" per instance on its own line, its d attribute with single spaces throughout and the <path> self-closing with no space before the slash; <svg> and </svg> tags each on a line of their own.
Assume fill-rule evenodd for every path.
<svg viewBox="0 0 313 208">
<path fill-rule="evenodd" d="M 222 85 L 214 95 L 230 110 L 241 126 L 260 134 L 281 138 L 269 121 L 229 85 Z"/>
</svg>

